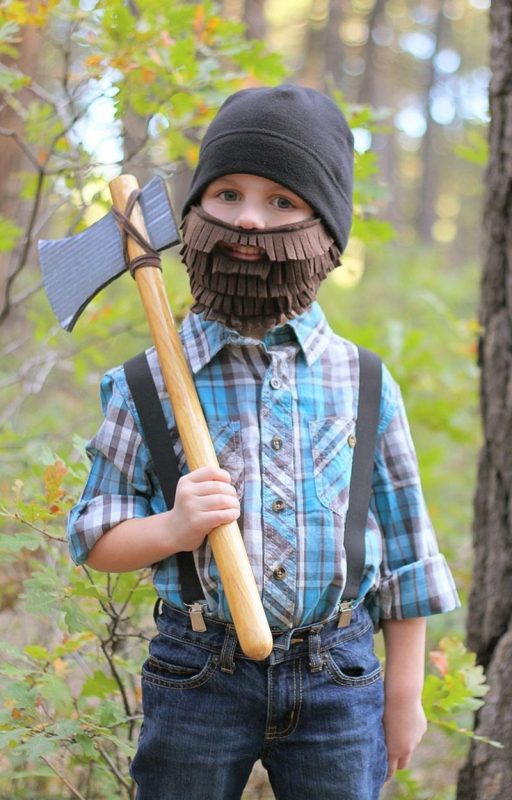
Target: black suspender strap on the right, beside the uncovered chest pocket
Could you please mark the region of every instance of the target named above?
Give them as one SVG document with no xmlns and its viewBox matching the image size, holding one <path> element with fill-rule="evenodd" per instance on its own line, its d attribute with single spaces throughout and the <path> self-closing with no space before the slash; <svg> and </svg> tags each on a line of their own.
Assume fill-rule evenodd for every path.
<svg viewBox="0 0 512 800">
<path fill-rule="evenodd" d="M 349 504 L 345 521 L 347 582 L 342 601 L 359 594 L 365 560 L 365 531 L 370 506 L 372 475 L 382 389 L 382 363 L 369 350 L 359 347 L 359 399 L 356 444 L 350 479 Z"/>
</svg>

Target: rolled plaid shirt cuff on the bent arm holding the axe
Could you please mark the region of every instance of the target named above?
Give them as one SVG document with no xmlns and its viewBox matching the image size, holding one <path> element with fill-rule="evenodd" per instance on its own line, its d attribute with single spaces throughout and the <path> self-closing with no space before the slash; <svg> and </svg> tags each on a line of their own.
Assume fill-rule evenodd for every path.
<svg viewBox="0 0 512 800">
<path fill-rule="evenodd" d="M 68 517 L 71 558 L 75 564 L 83 564 L 104 533 L 127 519 L 151 513 L 148 501 L 140 496 L 100 495 L 80 501 Z"/>
</svg>

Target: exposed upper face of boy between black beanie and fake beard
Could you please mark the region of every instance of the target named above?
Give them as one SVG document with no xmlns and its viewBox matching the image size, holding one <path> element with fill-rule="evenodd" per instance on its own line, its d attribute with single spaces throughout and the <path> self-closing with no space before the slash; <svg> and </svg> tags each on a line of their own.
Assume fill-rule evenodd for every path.
<svg viewBox="0 0 512 800">
<path fill-rule="evenodd" d="M 221 222 L 247 230 L 291 225 L 313 216 L 311 207 L 290 189 L 245 172 L 212 181 L 201 207 Z"/>
</svg>

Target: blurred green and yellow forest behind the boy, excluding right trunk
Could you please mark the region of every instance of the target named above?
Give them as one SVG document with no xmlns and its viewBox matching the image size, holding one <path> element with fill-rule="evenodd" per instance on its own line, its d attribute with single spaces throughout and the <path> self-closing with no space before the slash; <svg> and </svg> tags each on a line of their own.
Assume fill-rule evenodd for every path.
<svg viewBox="0 0 512 800">
<path fill-rule="evenodd" d="M 476 319 L 488 122 L 488 0 L 0 0 L 0 798 L 133 797 L 149 576 L 75 568 L 65 514 L 100 422 L 102 373 L 149 343 L 131 279 L 72 335 L 36 242 L 108 209 L 123 170 L 168 180 L 176 211 L 201 131 L 245 86 L 329 92 L 356 140 L 356 219 L 321 289 L 337 332 L 400 382 L 429 509 L 463 605 L 480 423 Z M 190 303 L 164 257 L 179 321 Z M 464 609 L 432 619 L 431 722 L 388 798 L 455 796 L 485 693 Z M 494 746 L 494 745 L 489 745 Z M 246 797 L 272 797 L 256 769 Z"/>
</svg>

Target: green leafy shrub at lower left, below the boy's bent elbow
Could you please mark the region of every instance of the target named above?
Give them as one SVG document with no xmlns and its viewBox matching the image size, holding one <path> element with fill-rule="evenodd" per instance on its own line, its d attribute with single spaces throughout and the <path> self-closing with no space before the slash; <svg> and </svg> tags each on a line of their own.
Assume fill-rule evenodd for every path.
<svg viewBox="0 0 512 800">
<path fill-rule="evenodd" d="M 14 644 L 12 632 L 0 643 L 0 796 L 13 785 L 17 798 L 46 796 L 60 774 L 81 796 L 128 798 L 154 590 L 146 573 L 114 577 L 71 563 L 59 532 L 85 470 L 55 457 L 40 474 L 38 496 L 25 497 L 18 482 L 0 508 L 0 557 L 28 574 L 17 614 L 33 637 Z"/>
</svg>

